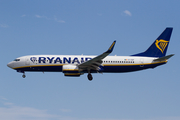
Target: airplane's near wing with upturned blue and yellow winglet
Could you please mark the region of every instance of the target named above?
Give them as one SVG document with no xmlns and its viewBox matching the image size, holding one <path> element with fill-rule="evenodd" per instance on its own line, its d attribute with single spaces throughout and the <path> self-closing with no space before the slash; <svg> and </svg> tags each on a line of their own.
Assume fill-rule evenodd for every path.
<svg viewBox="0 0 180 120">
<path fill-rule="evenodd" d="M 82 70 L 89 70 L 89 71 L 90 70 L 98 70 L 98 67 L 101 66 L 101 64 L 102 64 L 102 59 L 104 59 L 106 56 L 108 56 L 113 51 L 115 43 L 116 43 L 116 41 L 114 41 L 112 43 L 112 45 L 109 47 L 109 49 L 106 52 L 104 52 L 103 54 L 78 65 L 78 67 Z"/>
</svg>

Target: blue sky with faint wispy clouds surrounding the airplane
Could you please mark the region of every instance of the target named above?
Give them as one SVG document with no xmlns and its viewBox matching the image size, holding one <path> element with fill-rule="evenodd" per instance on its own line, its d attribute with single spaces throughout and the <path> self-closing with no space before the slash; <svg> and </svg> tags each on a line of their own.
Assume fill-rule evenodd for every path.
<svg viewBox="0 0 180 120">
<path fill-rule="evenodd" d="M 180 1 L 1 0 L 0 119 L 179 120 Z M 166 65 L 133 73 L 22 74 L 6 65 L 24 55 L 111 55 L 146 50 L 173 27 Z"/>
</svg>

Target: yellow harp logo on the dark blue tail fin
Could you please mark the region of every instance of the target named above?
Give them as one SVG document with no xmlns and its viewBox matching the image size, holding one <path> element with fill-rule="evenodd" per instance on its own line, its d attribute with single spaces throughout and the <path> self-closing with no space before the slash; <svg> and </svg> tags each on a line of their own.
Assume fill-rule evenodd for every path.
<svg viewBox="0 0 180 120">
<path fill-rule="evenodd" d="M 167 44 L 168 44 L 168 42 L 169 41 L 165 41 L 165 40 L 162 40 L 162 39 L 161 40 L 156 40 L 155 45 L 163 53 L 165 48 L 166 48 L 166 46 L 167 46 Z"/>
</svg>

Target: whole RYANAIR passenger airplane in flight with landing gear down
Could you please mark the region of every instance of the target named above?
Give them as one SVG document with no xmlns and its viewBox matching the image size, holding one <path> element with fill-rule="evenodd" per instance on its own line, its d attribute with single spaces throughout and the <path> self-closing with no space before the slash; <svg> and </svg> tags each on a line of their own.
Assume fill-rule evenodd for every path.
<svg viewBox="0 0 180 120">
<path fill-rule="evenodd" d="M 23 73 L 23 78 L 26 77 L 26 71 L 63 72 L 64 76 L 70 77 L 87 73 L 90 81 L 93 79 L 91 73 L 123 73 L 155 68 L 166 64 L 174 55 L 166 56 L 172 30 L 167 27 L 145 52 L 130 56 L 108 56 L 114 49 L 114 41 L 106 52 L 98 56 L 28 55 L 16 58 L 7 66 Z"/>
</svg>

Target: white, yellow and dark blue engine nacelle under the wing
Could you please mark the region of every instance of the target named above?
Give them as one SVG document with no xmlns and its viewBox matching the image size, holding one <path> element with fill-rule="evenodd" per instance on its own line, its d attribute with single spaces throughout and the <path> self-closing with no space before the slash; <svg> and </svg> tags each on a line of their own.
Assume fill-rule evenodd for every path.
<svg viewBox="0 0 180 120">
<path fill-rule="evenodd" d="M 81 75 L 79 68 L 76 65 L 63 65 L 62 72 L 64 73 L 64 76 L 79 77 Z"/>
</svg>

